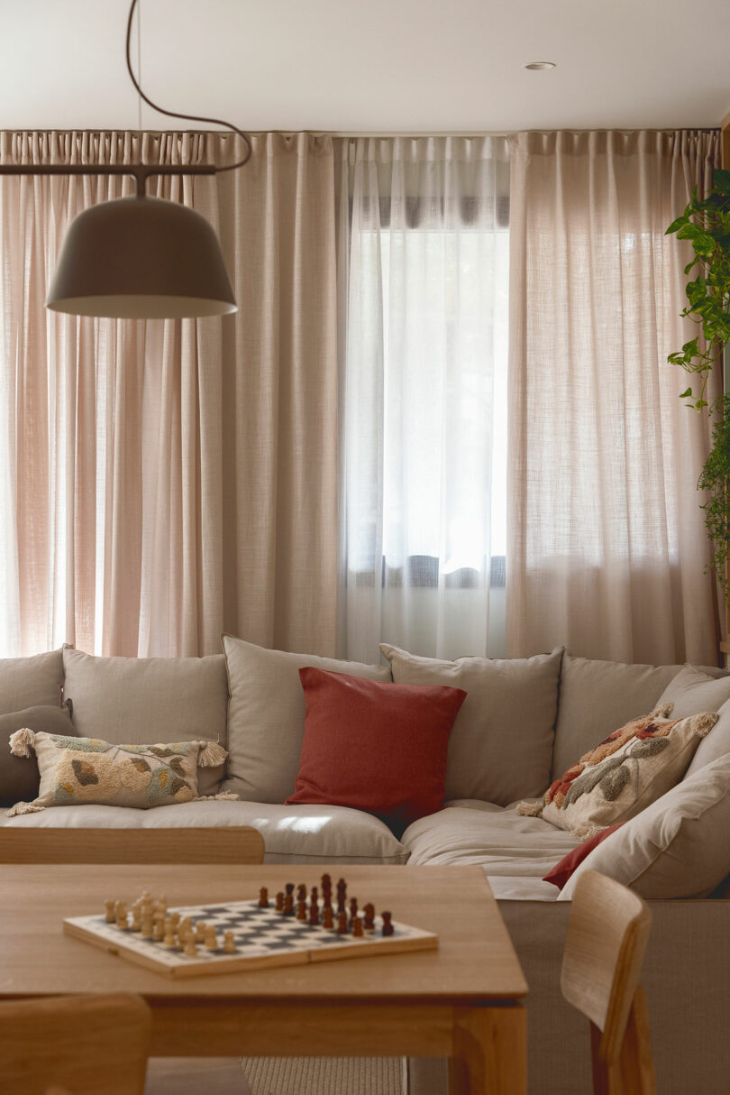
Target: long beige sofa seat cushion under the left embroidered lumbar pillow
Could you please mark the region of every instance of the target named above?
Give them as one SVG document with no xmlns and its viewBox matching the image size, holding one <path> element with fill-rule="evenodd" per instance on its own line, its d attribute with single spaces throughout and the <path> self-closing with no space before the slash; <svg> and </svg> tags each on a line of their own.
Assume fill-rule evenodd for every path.
<svg viewBox="0 0 730 1095">
<path fill-rule="evenodd" d="M 264 838 L 265 863 L 405 863 L 407 850 L 371 814 L 346 806 L 266 803 L 179 803 L 157 810 L 125 806 L 66 806 L 0 822 L 58 829 L 196 829 L 253 826 Z M 181 835 L 184 840 L 184 835 Z M 211 833 L 211 841 L 215 841 Z"/>
</svg>

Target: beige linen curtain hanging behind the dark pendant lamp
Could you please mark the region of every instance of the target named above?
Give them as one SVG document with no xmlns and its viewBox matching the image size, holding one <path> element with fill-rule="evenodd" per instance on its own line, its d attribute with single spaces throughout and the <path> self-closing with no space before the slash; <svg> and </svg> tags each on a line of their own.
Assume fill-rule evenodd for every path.
<svg viewBox="0 0 730 1095">
<path fill-rule="evenodd" d="M 220 134 L 0 135 L 2 162 L 232 162 Z M 218 652 L 229 631 L 334 653 L 332 142 L 254 137 L 250 164 L 154 181 L 220 234 L 234 318 L 59 316 L 65 230 L 126 181 L 0 183 L 0 646 Z"/>
</svg>

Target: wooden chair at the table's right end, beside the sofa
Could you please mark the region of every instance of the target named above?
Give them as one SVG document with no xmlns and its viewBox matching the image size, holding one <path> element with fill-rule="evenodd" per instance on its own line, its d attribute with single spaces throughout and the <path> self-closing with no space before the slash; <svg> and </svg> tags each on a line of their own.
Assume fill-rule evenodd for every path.
<svg viewBox="0 0 730 1095">
<path fill-rule="evenodd" d="M 587 871 L 572 899 L 560 988 L 591 1021 L 594 1095 L 656 1095 L 639 973 L 651 912 L 619 883 Z"/>
</svg>

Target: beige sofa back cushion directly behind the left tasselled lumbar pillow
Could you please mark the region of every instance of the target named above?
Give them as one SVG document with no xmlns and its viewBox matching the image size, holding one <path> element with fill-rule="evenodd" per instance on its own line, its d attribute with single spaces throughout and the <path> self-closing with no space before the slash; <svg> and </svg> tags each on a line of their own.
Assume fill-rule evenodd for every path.
<svg viewBox="0 0 730 1095">
<path fill-rule="evenodd" d="M 102 658 L 63 648 L 63 694 L 83 738 L 113 745 L 194 741 L 225 748 L 228 685 L 222 654 L 207 658 Z M 201 769 L 198 794 L 212 795 L 224 765 Z"/>
</svg>

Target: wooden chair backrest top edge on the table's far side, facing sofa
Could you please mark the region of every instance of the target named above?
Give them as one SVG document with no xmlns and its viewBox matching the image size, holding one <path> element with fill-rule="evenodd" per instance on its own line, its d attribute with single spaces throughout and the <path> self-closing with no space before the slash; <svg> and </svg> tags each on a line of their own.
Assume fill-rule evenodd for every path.
<svg viewBox="0 0 730 1095">
<path fill-rule="evenodd" d="M 264 838 L 257 829 L 248 826 L 207 829 L 0 828 L 0 863 L 201 863 L 215 866 L 263 862 Z"/>
</svg>

